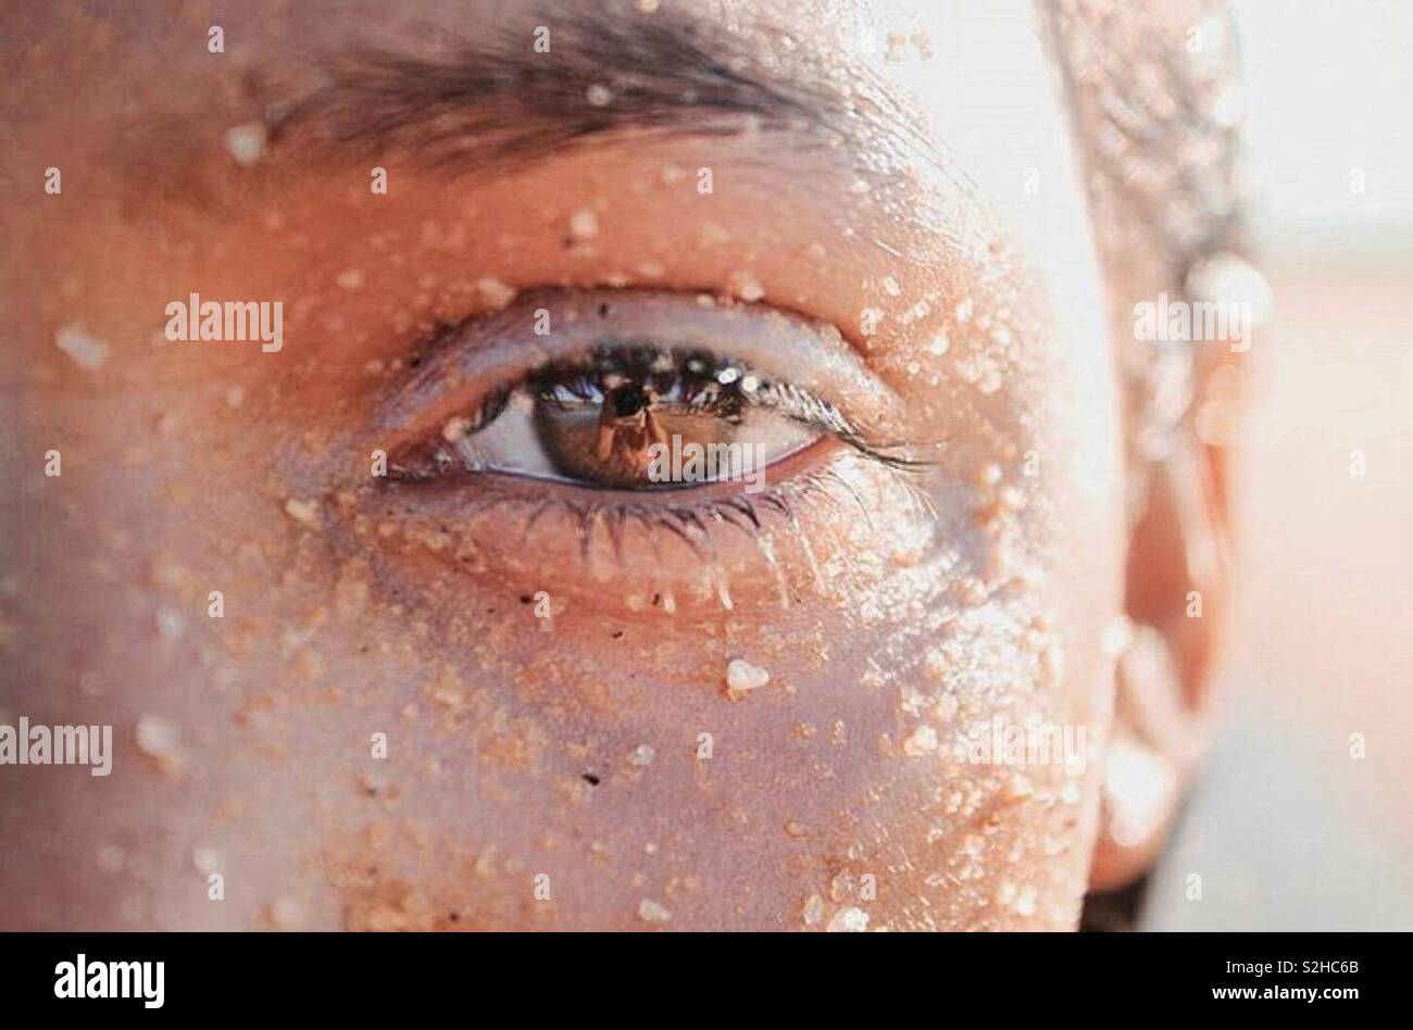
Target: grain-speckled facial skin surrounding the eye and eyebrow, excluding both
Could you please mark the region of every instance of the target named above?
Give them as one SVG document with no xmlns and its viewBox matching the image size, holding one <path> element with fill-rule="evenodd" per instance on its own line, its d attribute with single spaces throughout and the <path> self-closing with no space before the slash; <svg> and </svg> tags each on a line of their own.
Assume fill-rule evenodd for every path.
<svg viewBox="0 0 1413 1030">
<path fill-rule="evenodd" d="M 506 7 L 422 14 L 475 32 Z M 236 165 L 222 134 L 257 110 L 244 71 L 297 79 L 307 48 L 355 25 L 415 38 L 383 4 L 321 8 L 7 14 L 27 113 L 0 157 L 17 198 L 0 256 L 16 357 L 0 372 L 0 704 L 112 723 L 116 746 L 107 779 L 0 769 L 7 928 L 800 930 L 856 925 L 853 910 L 870 930 L 1072 928 L 1101 753 L 1084 776 L 952 754 L 993 718 L 1102 739 L 1104 634 L 1123 608 L 1116 376 L 1029 6 L 985 24 L 769 11 L 822 61 L 926 96 L 924 133 L 974 191 L 921 157 L 859 191 L 848 168 L 749 133 L 492 175 L 300 137 Z M 227 54 L 206 52 L 209 24 Z M 859 51 L 861 25 L 923 27 L 935 52 L 886 62 Z M 749 17 L 743 32 L 763 57 L 779 45 Z M 374 164 L 387 195 L 369 191 Z M 49 165 L 61 195 L 42 192 Z M 598 232 L 567 247 L 584 209 Z M 386 428 L 373 413 L 438 321 L 497 307 L 482 278 L 706 294 L 836 326 L 909 437 L 945 446 L 907 487 L 832 452 L 870 519 L 848 495 L 801 503 L 798 526 L 769 527 L 779 571 L 725 533 L 706 589 L 673 541 L 615 557 L 601 535 L 585 560 L 567 519 L 527 531 L 524 503 L 459 487 L 390 503 L 372 451 L 442 420 L 403 406 Z M 283 300 L 283 349 L 165 341 L 165 305 L 192 291 Z M 883 316 L 865 335 L 870 308 Z M 72 324 L 109 346 L 100 367 L 55 346 Z M 44 475 L 51 448 L 59 478 Z M 524 603 L 541 591 L 550 619 Z M 664 591 L 675 612 L 651 602 Z M 770 682 L 729 694 L 732 658 Z M 141 736 L 154 719 L 174 743 Z"/>
</svg>

